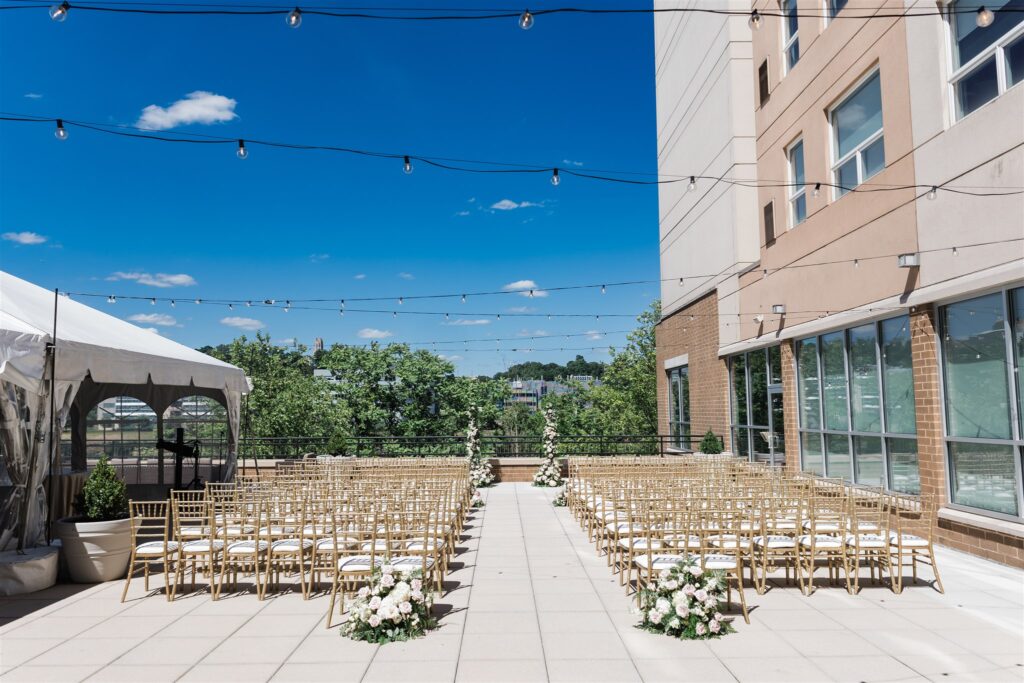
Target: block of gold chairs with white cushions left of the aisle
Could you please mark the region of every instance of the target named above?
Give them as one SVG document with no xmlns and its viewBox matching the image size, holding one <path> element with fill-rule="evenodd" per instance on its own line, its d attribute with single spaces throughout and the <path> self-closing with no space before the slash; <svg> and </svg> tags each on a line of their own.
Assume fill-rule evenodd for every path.
<svg viewBox="0 0 1024 683">
<path fill-rule="evenodd" d="M 424 586 L 440 592 L 471 493 L 463 459 L 332 459 L 132 501 L 122 602 L 139 570 L 150 590 L 154 565 L 169 601 L 186 580 L 190 590 L 205 580 L 214 600 L 240 590 L 262 600 L 291 578 L 304 599 L 330 591 L 330 627 L 339 594 L 343 605 L 384 563 L 421 571 Z M 244 589 L 240 579 L 249 580 Z"/>
</svg>

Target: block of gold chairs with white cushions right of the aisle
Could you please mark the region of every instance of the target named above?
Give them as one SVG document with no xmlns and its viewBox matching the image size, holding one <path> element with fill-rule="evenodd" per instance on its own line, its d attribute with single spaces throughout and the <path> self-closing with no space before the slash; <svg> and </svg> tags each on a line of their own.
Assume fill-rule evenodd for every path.
<svg viewBox="0 0 1024 683">
<path fill-rule="evenodd" d="M 853 487 L 841 479 L 794 474 L 732 458 L 570 459 L 567 504 L 595 550 L 627 590 L 656 581 L 683 555 L 719 569 L 736 589 L 744 620 L 744 581 L 759 593 L 781 571 L 810 595 L 815 573 L 860 590 L 888 575 L 896 593 L 904 567 L 920 564 L 942 581 L 933 546 L 936 510 L 928 497 Z"/>
</svg>

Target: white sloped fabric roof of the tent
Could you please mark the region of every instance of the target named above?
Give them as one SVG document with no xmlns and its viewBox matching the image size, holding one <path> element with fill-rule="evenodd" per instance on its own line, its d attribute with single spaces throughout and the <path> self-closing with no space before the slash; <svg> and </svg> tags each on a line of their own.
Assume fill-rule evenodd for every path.
<svg viewBox="0 0 1024 683">
<path fill-rule="evenodd" d="M 53 292 L 0 271 L 0 379 L 39 392 L 53 333 Z M 247 393 L 245 373 L 205 353 L 60 297 L 56 379 L 195 385 Z"/>
</svg>

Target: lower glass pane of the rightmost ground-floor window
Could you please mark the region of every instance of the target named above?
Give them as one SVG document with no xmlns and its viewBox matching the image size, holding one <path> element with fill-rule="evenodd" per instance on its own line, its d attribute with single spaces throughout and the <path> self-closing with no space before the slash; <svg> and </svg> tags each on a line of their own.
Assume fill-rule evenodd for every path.
<svg viewBox="0 0 1024 683">
<path fill-rule="evenodd" d="M 1015 449 L 997 443 L 949 443 L 953 503 L 1017 514 Z"/>
</svg>

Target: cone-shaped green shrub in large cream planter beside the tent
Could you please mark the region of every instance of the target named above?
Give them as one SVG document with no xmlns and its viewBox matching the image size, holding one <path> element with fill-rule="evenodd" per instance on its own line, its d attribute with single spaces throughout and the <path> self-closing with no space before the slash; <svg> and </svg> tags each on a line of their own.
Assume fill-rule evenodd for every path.
<svg viewBox="0 0 1024 683">
<path fill-rule="evenodd" d="M 103 456 L 85 480 L 79 514 L 53 525 L 71 580 L 97 584 L 124 577 L 131 555 L 131 519 L 125 484 Z"/>
</svg>

